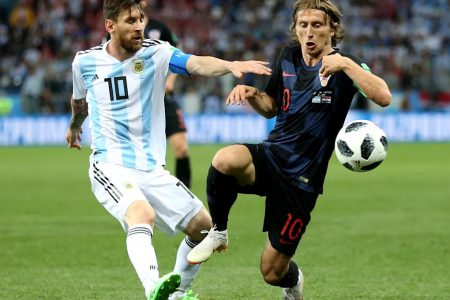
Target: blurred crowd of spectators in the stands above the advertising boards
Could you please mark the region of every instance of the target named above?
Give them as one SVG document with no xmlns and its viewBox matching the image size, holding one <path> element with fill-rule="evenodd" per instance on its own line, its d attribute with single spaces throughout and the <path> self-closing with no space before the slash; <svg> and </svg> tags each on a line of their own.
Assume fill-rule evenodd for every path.
<svg viewBox="0 0 450 300">
<path fill-rule="evenodd" d="M 288 41 L 294 1 L 149 2 L 148 13 L 177 34 L 186 53 L 272 61 Z M 340 47 L 365 59 L 398 92 L 399 109 L 449 109 L 449 1 L 336 2 L 347 32 Z M 104 35 L 101 0 L 0 0 L 0 96 L 19 94 L 29 114 L 68 112 L 73 56 Z M 243 81 L 263 87 L 266 78 Z M 183 77 L 177 95 L 186 113 L 219 112 L 235 83 L 230 76 Z"/>
</svg>

